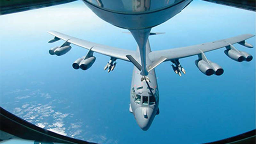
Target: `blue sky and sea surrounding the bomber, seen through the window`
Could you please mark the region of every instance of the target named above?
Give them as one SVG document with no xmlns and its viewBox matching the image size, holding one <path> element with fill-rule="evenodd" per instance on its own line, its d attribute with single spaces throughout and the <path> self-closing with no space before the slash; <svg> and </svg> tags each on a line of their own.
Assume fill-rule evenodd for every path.
<svg viewBox="0 0 256 144">
<path fill-rule="evenodd" d="M 72 63 L 87 50 L 73 45 L 60 57 L 48 53 L 63 42 L 48 44 L 47 30 L 135 50 L 133 37 L 122 33 L 127 30 L 101 20 L 81 1 L 3 15 L 0 21 L 0 105 L 33 124 L 100 143 L 202 143 L 255 129 L 255 59 L 239 63 L 225 49 L 207 52 L 224 69 L 222 76 L 202 74 L 197 56 L 180 60 L 187 71 L 181 77 L 170 62 L 161 64 L 160 114 L 144 132 L 128 110 L 131 63 L 118 60 L 107 73 L 109 58 L 95 54 L 93 66 L 82 71 Z M 153 51 L 255 35 L 255 12 L 195 0 L 152 32 L 166 32 L 150 36 Z M 255 37 L 247 42 L 255 46 Z M 234 46 L 255 58 L 255 48 Z"/>
</svg>

